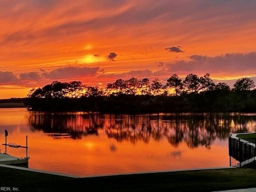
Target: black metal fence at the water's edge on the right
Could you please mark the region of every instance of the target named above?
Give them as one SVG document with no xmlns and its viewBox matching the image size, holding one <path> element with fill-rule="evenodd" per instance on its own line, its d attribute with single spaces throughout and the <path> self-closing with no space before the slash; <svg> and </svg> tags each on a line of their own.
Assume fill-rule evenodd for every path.
<svg viewBox="0 0 256 192">
<path fill-rule="evenodd" d="M 230 166 L 256 168 L 256 138 L 228 138 Z"/>
</svg>

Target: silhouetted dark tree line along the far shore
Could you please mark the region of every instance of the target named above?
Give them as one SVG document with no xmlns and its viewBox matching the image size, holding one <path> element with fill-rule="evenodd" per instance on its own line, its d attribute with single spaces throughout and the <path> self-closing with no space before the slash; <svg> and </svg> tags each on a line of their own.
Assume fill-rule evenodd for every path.
<svg viewBox="0 0 256 192">
<path fill-rule="evenodd" d="M 30 90 L 26 106 L 46 111 L 146 112 L 238 112 L 256 111 L 256 90 L 250 78 L 240 78 L 233 88 L 215 84 L 210 74 L 188 74 L 184 80 L 173 74 L 166 84 L 156 78 L 118 79 L 106 87 L 80 81 L 53 81 Z"/>
</svg>

